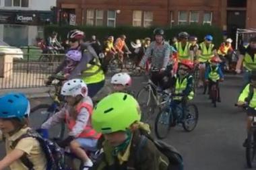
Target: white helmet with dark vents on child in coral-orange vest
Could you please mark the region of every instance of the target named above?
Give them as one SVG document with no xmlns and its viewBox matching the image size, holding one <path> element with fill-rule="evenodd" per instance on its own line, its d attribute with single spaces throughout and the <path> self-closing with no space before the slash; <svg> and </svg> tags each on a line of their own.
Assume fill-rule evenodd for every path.
<svg viewBox="0 0 256 170">
<path fill-rule="evenodd" d="M 82 89 L 85 89 L 86 92 L 83 92 Z M 61 95 L 67 96 L 71 95 L 73 97 L 77 95 L 86 96 L 88 94 L 88 87 L 82 79 L 71 79 L 66 81 L 61 88 Z"/>
</svg>

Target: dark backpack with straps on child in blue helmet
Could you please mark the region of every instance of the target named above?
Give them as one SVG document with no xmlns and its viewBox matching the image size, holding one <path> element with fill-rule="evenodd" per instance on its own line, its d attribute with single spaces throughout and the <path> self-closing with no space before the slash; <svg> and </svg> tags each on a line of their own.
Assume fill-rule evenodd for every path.
<svg viewBox="0 0 256 170">
<path fill-rule="evenodd" d="M 52 142 L 49 139 L 42 138 L 40 134 L 33 130 L 28 130 L 26 134 L 20 136 L 20 138 L 13 141 L 11 148 L 15 148 L 20 140 L 23 138 L 32 137 L 38 140 L 42 151 L 46 156 L 46 170 L 64 170 L 65 169 L 65 159 L 64 159 L 64 150 L 63 148 L 59 147 L 55 142 Z M 29 170 L 34 170 L 34 165 L 28 159 L 26 154 L 22 155 L 20 158 L 22 163 L 28 167 Z"/>
</svg>

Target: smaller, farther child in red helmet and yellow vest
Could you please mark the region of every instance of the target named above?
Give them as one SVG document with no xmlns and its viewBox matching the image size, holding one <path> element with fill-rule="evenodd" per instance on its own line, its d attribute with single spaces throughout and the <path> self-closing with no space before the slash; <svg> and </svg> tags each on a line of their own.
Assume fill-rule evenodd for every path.
<svg viewBox="0 0 256 170">
<path fill-rule="evenodd" d="M 212 85 L 216 83 L 218 88 L 218 102 L 220 102 L 220 88 L 219 81 L 224 81 L 224 75 L 222 69 L 220 68 L 220 58 L 218 56 L 213 56 L 210 59 L 210 65 L 207 66 L 205 71 L 205 81 L 208 83 L 208 91 L 212 89 Z"/>
</svg>

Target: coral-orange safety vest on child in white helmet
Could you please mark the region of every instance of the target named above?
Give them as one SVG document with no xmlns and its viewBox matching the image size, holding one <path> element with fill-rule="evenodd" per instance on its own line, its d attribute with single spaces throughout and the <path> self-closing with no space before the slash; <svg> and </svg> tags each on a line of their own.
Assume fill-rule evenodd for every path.
<svg viewBox="0 0 256 170">
<path fill-rule="evenodd" d="M 86 108 L 86 110 L 88 110 L 90 117 L 89 117 L 88 123 L 84 127 L 84 131 L 81 132 L 78 137 L 79 138 L 95 138 L 95 139 L 100 138 L 101 134 L 97 133 L 96 130 L 92 128 L 92 110 L 93 110 L 92 105 L 86 102 L 79 103 L 75 108 L 77 114 L 79 114 L 82 108 Z M 73 127 L 75 126 L 76 117 L 77 115 L 75 116 L 75 118 L 72 118 L 71 116 L 69 116 L 69 113 L 65 114 L 65 121 L 67 122 L 67 128 L 69 128 L 69 130 L 72 130 Z"/>
</svg>

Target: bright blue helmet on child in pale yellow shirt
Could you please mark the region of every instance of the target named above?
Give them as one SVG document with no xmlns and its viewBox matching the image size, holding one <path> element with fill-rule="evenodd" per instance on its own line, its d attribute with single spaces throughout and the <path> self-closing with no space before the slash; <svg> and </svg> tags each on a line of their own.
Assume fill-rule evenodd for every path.
<svg viewBox="0 0 256 170">
<path fill-rule="evenodd" d="M 30 114 L 30 101 L 22 93 L 7 93 L 0 97 L 0 118 L 22 119 Z"/>
</svg>

